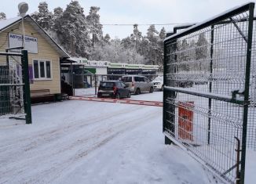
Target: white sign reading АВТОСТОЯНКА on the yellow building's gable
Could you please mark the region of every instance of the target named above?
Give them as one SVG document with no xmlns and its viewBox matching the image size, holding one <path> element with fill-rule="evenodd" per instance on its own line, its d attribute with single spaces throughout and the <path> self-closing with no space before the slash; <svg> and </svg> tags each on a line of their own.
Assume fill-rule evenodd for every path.
<svg viewBox="0 0 256 184">
<path fill-rule="evenodd" d="M 23 35 L 9 33 L 9 47 L 22 47 Z M 38 38 L 25 36 L 25 49 L 30 53 L 38 53 Z"/>
</svg>

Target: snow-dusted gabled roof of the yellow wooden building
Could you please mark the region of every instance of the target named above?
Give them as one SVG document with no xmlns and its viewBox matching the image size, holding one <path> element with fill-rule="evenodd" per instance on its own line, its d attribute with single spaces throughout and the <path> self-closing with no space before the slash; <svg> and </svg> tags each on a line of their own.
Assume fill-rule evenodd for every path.
<svg viewBox="0 0 256 184">
<path fill-rule="evenodd" d="M 8 29 L 9 27 L 12 27 L 14 24 L 16 23 L 20 23 L 22 20 L 22 18 L 20 16 L 12 18 L 12 19 L 8 19 L 8 20 L 0 20 L 0 33 L 2 31 L 5 31 L 6 29 Z M 38 25 L 38 23 L 35 22 L 35 20 L 33 20 L 31 18 L 31 16 L 27 15 L 24 17 L 24 21 L 27 23 L 30 23 L 31 26 L 35 29 L 35 31 L 38 31 L 38 33 L 46 39 L 46 41 L 49 43 L 49 45 L 51 45 L 60 55 L 60 58 L 68 58 L 70 57 L 68 55 L 67 52 L 64 51 L 64 49 L 62 49 L 60 47 L 60 45 L 57 44 L 56 41 L 53 40 L 53 38 L 51 38 L 49 36 L 49 34 L 46 33 L 46 31 L 44 31 L 42 29 L 42 27 L 40 27 Z"/>
</svg>

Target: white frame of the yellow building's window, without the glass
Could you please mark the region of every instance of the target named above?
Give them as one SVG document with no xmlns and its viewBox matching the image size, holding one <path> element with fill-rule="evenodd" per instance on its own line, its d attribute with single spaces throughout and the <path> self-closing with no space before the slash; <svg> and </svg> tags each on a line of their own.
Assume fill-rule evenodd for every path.
<svg viewBox="0 0 256 184">
<path fill-rule="evenodd" d="M 34 67 L 34 62 L 38 61 L 38 78 L 35 78 L 35 67 Z M 50 78 L 47 78 L 47 70 L 46 70 L 46 62 L 49 62 L 49 67 L 50 67 Z M 45 77 L 41 78 L 41 68 L 40 68 L 40 62 L 44 63 L 44 71 L 45 71 Z M 53 80 L 53 63 L 52 60 L 42 60 L 42 59 L 33 59 L 32 60 L 32 68 L 33 68 L 33 78 L 34 81 L 52 81 Z"/>
</svg>

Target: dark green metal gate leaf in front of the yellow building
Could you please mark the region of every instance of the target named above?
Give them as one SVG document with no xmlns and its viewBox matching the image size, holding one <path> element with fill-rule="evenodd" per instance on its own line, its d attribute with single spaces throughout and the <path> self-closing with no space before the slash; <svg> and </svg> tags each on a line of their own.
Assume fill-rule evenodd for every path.
<svg viewBox="0 0 256 184">
<path fill-rule="evenodd" d="M 25 119 L 31 124 L 27 51 L 0 52 L 0 118 Z"/>
</svg>

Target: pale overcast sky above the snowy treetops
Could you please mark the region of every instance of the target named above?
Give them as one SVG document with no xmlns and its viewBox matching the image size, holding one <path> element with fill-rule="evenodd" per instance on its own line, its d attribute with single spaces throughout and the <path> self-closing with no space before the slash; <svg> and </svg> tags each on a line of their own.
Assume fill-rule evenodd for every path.
<svg viewBox="0 0 256 184">
<path fill-rule="evenodd" d="M 19 2 L 27 2 L 28 13 L 34 13 L 38 11 L 38 4 L 43 0 L 1 0 L 0 12 L 4 12 L 7 18 L 16 16 Z M 53 11 L 58 6 L 65 9 L 71 0 L 45 2 L 49 5 L 49 11 Z M 101 8 L 99 13 L 102 24 L 138 23 L 138 29 L 143 35 L 146 34 L 148 26 L 140 24 L 197 23 L 247 2 L 256 0 L 79 0 L 86 15 L 90 6 Z M 160 30 L 163 26 L 155 27 Z M 171 31 L 173 26 L 164 27 L 166 31 Z M 104 25 L 103 31 L 112 38 L 125 38 L 133 32 L 133 27 Z"/>
</svg>

